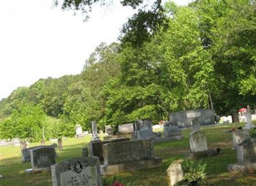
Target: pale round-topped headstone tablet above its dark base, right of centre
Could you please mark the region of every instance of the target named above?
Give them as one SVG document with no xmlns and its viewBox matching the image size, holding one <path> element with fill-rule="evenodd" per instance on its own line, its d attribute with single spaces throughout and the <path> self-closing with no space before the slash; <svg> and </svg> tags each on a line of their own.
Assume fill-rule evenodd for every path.
<svg viewBox="0 0 256 186">
<path fill-rule="evenodd" d="M 189 144 L 191 153 L 207 151 L 207 141 L 205 132 L 201 130 L 193 131 L 189 134 Z"/>
</svg>

